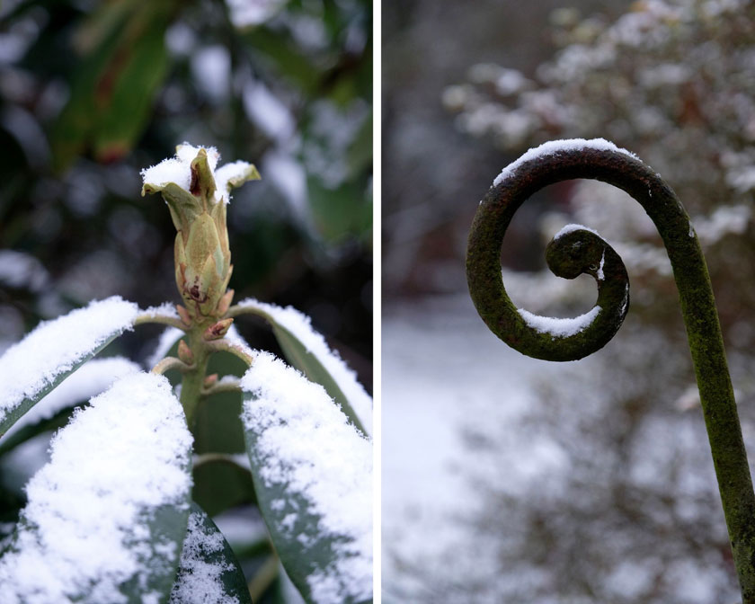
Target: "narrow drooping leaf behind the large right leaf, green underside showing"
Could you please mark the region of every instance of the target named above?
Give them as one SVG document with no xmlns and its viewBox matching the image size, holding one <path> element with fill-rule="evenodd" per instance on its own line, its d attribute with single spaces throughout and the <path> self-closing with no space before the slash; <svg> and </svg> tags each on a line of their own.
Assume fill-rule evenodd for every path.
<svg viewBox="0 0 755 604">
<path fill-rule="evenodd" d="M 311 381 L 324 386 L 343 413 L 365 434 L 372 432 L 372 399 L 357 381 L 356 374 L 341 357 L 331 351 L 324 337 L 312 329 L 308 316 L 296 308 L 246 298 L 237 306 L 244 312 L 262 316 L 275 334 L 289 363 Z"/>
</svg>

